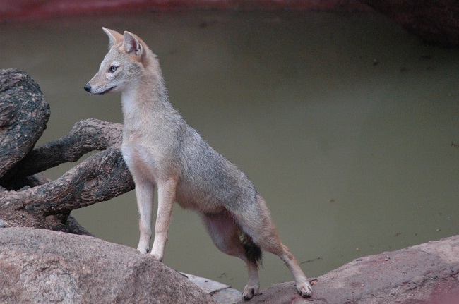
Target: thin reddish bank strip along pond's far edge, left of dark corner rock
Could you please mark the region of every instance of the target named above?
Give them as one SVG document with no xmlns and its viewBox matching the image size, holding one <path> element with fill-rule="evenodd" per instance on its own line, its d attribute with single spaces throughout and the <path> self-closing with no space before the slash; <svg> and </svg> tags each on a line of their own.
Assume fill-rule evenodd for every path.
<svg viewBox="0 0 459 304">
<path fill-rule="evenodd" d="M 368 10 L 357 0 L 0 0 L 0 20 L 24 20 L 81 13 L 184 9 Z"/>
</svg>

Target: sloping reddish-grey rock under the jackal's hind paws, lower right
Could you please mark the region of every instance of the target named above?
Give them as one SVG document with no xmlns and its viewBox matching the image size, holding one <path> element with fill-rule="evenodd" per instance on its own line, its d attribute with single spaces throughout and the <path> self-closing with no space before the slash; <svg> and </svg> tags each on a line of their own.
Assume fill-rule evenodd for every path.
<svg viewBox="0 0 459 304">
<path fill-rule="evenodd" d="M 458 304 L 459 236 L 354 260 L 319 276 L 313 292 L 275 284 L 249 303 Z"/>
</svg>

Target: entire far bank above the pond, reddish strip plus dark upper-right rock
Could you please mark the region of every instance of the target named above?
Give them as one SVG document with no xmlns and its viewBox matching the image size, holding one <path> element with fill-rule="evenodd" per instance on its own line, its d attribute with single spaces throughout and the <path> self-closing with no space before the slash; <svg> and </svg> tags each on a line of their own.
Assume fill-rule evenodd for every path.
<svg viewBox="0 0 459 304">
<path fill-rule="evenodd" d="M 56 16 L 121 11 L 186 9 L 290 9 L 309 11 L 376 11 L 430 44 L 459 46 L 457 0 L 0 0 L 0 20 L 29 20 Z"/>
</svg>

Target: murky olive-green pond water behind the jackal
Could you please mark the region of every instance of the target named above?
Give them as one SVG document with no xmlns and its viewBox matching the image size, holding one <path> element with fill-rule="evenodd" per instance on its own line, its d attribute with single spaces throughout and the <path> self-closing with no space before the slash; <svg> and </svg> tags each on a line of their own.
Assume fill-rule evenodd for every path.
<svg viewBox="0 0 459 304">
<path fill-rule="evenodd" d="M 30 73 L 51 105 L 39 144 L 80 119 L 122 122 L 119 95 L 83 90 L 107 51 L 102 26 L 135 32 L 158 55 L 174 107 L 251 178 L 307 276 L 459 233 L 458 49 L 425 46 L 377 13 L 4 23 L 0 68 Z M 137 245 L 133 192 L 73 215 L 99 238 Z M 244 263 L 178 206 L 163 262 L 239 290 L 246 280 Z M 292 281 L 277 257 L 264 265 L 262 288 Z"/>
</svg>

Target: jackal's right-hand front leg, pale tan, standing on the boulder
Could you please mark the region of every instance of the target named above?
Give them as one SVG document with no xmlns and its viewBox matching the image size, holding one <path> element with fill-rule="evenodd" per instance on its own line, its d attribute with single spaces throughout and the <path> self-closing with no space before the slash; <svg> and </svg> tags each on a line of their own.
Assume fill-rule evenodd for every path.
<svg viewBox="0 0 459 304">
<path fill-rule="evenodd" d="M 177 190 L 177 179 L 169 178 L 157 184 L 157 216 L 155 225 L 155 241 L 151 254 L 156 260 L 161 261 L 167 242 L 172 207 L 174 207 Z"/>
</svg>

